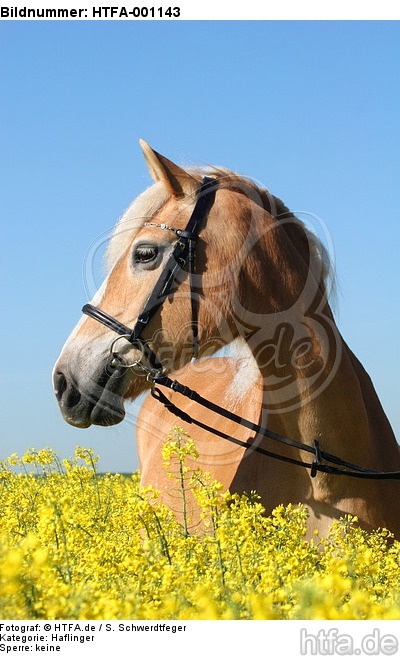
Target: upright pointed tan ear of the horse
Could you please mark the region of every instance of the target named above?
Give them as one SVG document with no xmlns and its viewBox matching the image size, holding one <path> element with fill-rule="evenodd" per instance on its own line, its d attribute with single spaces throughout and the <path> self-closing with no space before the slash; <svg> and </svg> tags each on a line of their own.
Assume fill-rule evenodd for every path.
<svg viewBox="0 0 400 656">
<path fill-rule="evenodd" d="M 198 187 L 196 179 L 180 166 L 150 148 L 143 139 L 139 143 L 154 182 L 162 181 L 172 196 L 191 194 Z"/>
</svg>

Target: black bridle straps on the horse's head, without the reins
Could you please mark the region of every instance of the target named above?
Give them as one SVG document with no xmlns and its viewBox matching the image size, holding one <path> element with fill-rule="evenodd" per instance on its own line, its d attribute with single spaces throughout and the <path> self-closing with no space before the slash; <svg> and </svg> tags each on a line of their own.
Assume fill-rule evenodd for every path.
<svg viewBox="0 0 400 656">
<path fill-rule="evenodd" d="M 162 230 L 169 230 L 178 237 L 175 246 L 170 254 L 164 269 L 161 271 L 160 276 L 147 299 L 143 310 L 140 312 L 136 319 L 136 324 L 133 328 L 129 328 L 121 323 L 110 314 L 103 312 L 99 308 L 87 303 L 83 306 L 82 312 L 87 314 L 92 319 L 96 319 L 107 328 L 114 330 L 119 337 L 125 339 L 134 347 L 141 351 L 142 356 L 140 360 L 136 360 L 131 365 L 124 365 L 123 361 L 114 353 L 114 344 L 119 339 L 117 337 L 111 346 L 111 366 L 113 367 L 134 367 L 139 366 L 147 370 L 150 375 L 157 375 L 162 372 L 162 364 L 159 362 L 156 354 L 151 350 L 146 340 L 143 338 L 142 333 L 144 328 L 149 323 L 150 319 L 154 316 L 157 309 L 164 303 L 167 298 L 171 287 L 176 282 L 179 273 L 184 269 L 186 264 L 189 271 L 190 282 L 190 302 L 192 311 L 192 334 L 193 334 L 193 357 L 198 355 L 198 300 L 194 289 L 194 274 L 195 274 L 195 248 L 199 236 L 199 232 L 204 225 L 204 221 L 208 212 L 210 211 L 214 200 L 215 192 L 217 189 L 217 180 L 214 178 L 203 178 L 201 187 L 197 192 L 197 200 L 193 212 L 184 230 L 171 228 L 164 223 L 147 222 L 144 225 L 161 228 Z M 149 366 L 143 363 L 143 357 L 147 360 Z"/>
</svg>

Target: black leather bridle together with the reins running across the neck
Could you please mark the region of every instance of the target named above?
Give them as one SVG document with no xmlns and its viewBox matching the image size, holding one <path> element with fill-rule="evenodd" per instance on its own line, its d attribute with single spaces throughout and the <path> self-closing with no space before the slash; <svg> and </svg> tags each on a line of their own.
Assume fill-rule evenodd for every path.
<svg viewBox="0 0 400 656">
<path fill-rule="evenodd" d="M 136 324 L 133 328 L 126 326 L 121 323 L 111 315 L 103 312 L 99 308 L 90 305 L 87 303 L 83 306 L 82 312 L 92 319 L 96 319 L 110 330 L 113 330 L 118 334 L 119 337 L 114 339 L 111 346 L 111 367 L 134 367 L 138 366 L 147 373 L 147 378 L 152 382 L 151 394 L 153 398 L 162 403 L 167 410 L 171 413 L 182 419 L 187 423 L 192 423 L 204 430 L 221 437 L 222 439 L 228 440 L 234 444 L 237 444 L 244 449 L 249 449 L 262 455 L 268 456 L 270 458 L 275 458 L 283 462 L 297 465 L 306 469 L 310 469 L 311 477 L 315 477 L 317 472 L 324 472 L 327 474 L 351 476 L 356 478 L 367 478 L 375 480 L 384 480 L 384 479 L 400 479 L 400 471 L 394 472 L 380 472 L 359 465 L 355 465 L 346 460 L 342 460 L 337 456 L 323 451 L 320 449 L 318 440 L 313 441 L 313 446 L 309 444 L 304 444 L 296 440 L 291 440 L 283 435 L 274 433 L 259 424 L 255 424 L 239 415 L 236 415 L 225 408 L 205 399 L 200 394 L 190 389 L 185 385 L 181 385 L 177 380 L 172 380 L 163 371 L 163 366 L 157 358 L 157 355 L 148 345 L 146 339 L 143 337 L 143 330 L 148 325 L 151 318 L 154 316 L 158 308 L 163 304 L 168 294 L 171 291 L 172 285 L 177 281 L 178 275 L 181 271 L 188 266 L 189 273 L 189 284 L 190 284 L 190 299 L 191 299 L 191 312 L 192 312 L 192 335 L 193 335 L 193 357 L 198 355 L 198 295 L 195 292 L 194 288 L 194 274 L 195 274 L 195 248 L 196 242 L 199 237 L 200 230 L 204 225 L 204 221 L 210 211 L 214 200 L 215 193 L 218 187 L 218 181 L 214 178 L 203 178 L 201 187 L 197 192 L 196 204 L 193 209 L 193 212 L 189 218 L 189 221 L 184 230 L 175 229 L 173 227 L 167 226 L 165 224 L 158 224 L 153 222 L 148 222 L 145 225 L 154 226 L 161 228 L 163 230 L 170 230 L 174 232 L 177 236 L 177 241 L 174 245 L 174 248 L 171 254 L 168 257 L 168 260 L 164 266 L 164 269 L 161 271 L 160 276 L 154 286 L 153 291 L 151 292 L 149 298 L 147 299 L 143 310 L 140 312 L 137 317 Z M 125 365 L 120 356 L 113 351 L 113 346 L 115 342 L 120 338 L 124 337 L 134 348 L 137 348 L 141 352 L 140 360 L 135 361 L 132 365 Z M 146 363 L 143 362 L 143 358 L 146 360 Z M 253 438 L 247 442 L 243 442 L 231 435 L 227 435 L 222 431 L 205 424 L 198 419 L 191 417 L 189 414 L 178 408 L 172 401 L 168 399 L 165 394 L 159 389 L 158 386 L 164 386 L 171 389 L 174 392 L 189 398 L 195 403 L 207 408 L 213 413 L 216 413 L 230 421 L 240 424 L 245 428 L 248 428 L 255 433 L 256 436 L 260 435 L 262 437 L 267 437 L 275 442 L 284 444 L 289 447 L 299 449 L 300 451 L 305 451 L 309 454 L 312 454 L 312 462 L 304 462 L 303 460 L 297 458 L 291 458 L 289 456 L 284 456 L 282 454 L 275 453 L 273 451 L 268 451 L 263 447 L 255 443 Z M 325 462 L 323 462 L 325 461 Z M 329 463 L 329 464 L 326 464 Z"/>
</svg>

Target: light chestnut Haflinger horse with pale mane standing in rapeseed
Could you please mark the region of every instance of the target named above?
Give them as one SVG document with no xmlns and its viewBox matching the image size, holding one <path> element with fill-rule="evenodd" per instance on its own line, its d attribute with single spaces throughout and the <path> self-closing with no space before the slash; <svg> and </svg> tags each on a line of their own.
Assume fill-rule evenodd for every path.
<svg viewBox="0 0 400 656">
<path fill-rule="evenodd" d="M 335 475 L 319 466 L 323 449 L 366 471 L 400 469 L 399 447 L 371 379 L 335 322 L 323 245 L 262 185 L 222 167 L 181 167 L 140 143 L 153 184 L 117 222 L 107 276 L 54 367 L 64 419 L 80 428 L 119 423 L 125 401 L 154 388 L 161 367 L 181 387 L 247 420 L 232 425 L 192 398 L 179 399 L 187 414 L 177 420 L 156 398 L 144 401 L 141 482 L 158 487 L 175 512 L 161 446 L 179 424 L 195 440 L 201 465 L 226 489 L 255 490 L 267 512 L 303 504 L 308 535 L 326 535 L 333 520 L 350 514 L 368 531 L 386 528 L 399 537 L 398 480 Z M 203 196 L 209 200 L 199 220 Z M 186 243 L 189 266 L 179 255 Z M 168 284 L 166 270 L 173 270 Z M 218 356 L 232 345 L 234 355 Z M 167 401 L 173 396 L 165 394 Z M 189 415 L 200 426 L 186 422 Z M 268 431 L 286 441 L 269 439 Z"/>
</svg>

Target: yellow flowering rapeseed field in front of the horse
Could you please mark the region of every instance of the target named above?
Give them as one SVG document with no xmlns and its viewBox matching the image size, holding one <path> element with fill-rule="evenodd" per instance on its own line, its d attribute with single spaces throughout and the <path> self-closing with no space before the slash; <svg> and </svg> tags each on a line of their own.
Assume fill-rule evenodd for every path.
<svg viewBox="0 0 400 656">
<path fill-rule="evenodd" d="M 194 495 L 204 531 L 190 534 L 139 485 L 98 475 L 92 450 L 61 461 L 30 449 L 1 463 L 3 619 L 399 619 L 400 543 L 354 518 L 306 540 L 306 513 L 271 516 L 254 494 L 223 493 L 175 428 L 163 450 L 182 508 Z M 178 465 L 178 466 L 177 466 Z M 173 473 L 177 472 L 177 473 Z"/>
</svg>

